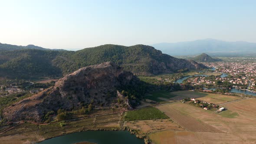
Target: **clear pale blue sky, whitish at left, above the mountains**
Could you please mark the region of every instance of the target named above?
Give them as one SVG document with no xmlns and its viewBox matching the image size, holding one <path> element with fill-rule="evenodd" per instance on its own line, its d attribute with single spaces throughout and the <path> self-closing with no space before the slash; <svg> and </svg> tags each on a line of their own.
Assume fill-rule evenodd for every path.
<svg viewBox="0 0 256 144">
<path fill-rule="evenodd" d="M 82 49 L 206 38 L 256 43 L 256 0 L 0 0 L 0 43 Z"/>
</svg>

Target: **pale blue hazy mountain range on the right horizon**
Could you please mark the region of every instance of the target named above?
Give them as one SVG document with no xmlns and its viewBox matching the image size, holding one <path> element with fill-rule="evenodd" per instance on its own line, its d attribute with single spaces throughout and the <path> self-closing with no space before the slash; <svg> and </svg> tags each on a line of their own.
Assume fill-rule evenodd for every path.
<svg viewBox="0 0 256 144">
<path fill-rule="evenodd" d="M 223 54 L 256 54 L 256 43 L 243 41 L 226 42 L 217 39 L 200 39 L 179 43 L 157 43 L 151 45 L 171 56 L 191 56 L 202 52 L 211 55 Z"/>
</svg>

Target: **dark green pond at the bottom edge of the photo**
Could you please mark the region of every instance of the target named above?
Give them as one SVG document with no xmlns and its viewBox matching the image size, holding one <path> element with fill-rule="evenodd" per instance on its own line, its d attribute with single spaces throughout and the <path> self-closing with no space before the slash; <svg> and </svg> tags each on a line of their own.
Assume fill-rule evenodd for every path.
<svg viewBox="0 0 256 144">
<path fill-rule="evenodd" d="M 85 141 L 96 144 L 144 144 L 144 139 L 128 131 L 82 131 L 53 137 L 39 144 L 74 144 Z"/>
</svg>

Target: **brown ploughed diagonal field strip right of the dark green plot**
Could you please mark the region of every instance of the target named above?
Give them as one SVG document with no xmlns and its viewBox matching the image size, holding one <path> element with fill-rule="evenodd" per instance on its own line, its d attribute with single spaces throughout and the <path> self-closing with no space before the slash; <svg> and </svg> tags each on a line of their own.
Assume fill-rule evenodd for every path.
<svg viewBox="0 0 256 144">
<path fill-rule="evenodd" d="M 163 111 L 165 115 L 170 117 L 173 121 L 175 121 L 177 124 L 179 124 L 181 127 L 186 129 L 187 131 L 204 131 L 204 132 L 223 133 L 223 131 L 213 128 L 209 124 L 203 123 L 201 121 L 197 121 L 195 118 L 189 115 L 183 114 L 181 111 L 179 111 L 172 105 L 162 105 L 156 108 L 158 108 L 160 111 Z"/>
</svg>

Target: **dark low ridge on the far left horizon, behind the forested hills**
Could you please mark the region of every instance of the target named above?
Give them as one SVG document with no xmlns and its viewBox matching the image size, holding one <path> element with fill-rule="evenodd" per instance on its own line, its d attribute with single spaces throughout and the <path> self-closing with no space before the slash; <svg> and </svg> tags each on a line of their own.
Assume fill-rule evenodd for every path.
<svg viewBox="0 0 256 144">
<path fill-rule="evenodd" d="M 21 49 L 40 49 L 40 50 L 54 50 L 54 51 L 66 51 L 64 49 L 45 49 L 40 46 L 34 45 L 27 45 L 27 46 L 16 46 L 10 44 L 0 43 L 0 50 L 1 51 L 13 51 L 13 50 L 21 50 Z"/>
</svg>

